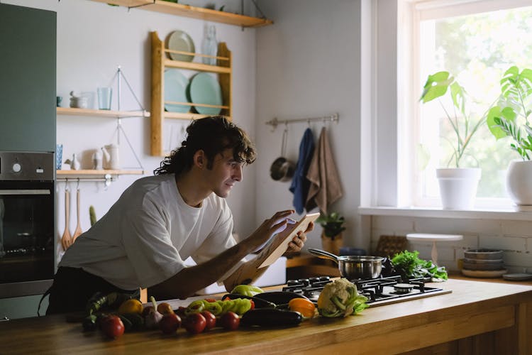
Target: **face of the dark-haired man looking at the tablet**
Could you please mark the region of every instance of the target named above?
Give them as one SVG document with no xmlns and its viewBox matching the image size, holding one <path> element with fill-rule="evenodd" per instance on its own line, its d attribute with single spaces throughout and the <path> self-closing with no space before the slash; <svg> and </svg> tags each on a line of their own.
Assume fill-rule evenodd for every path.
<svg viewBox="0 0 532 355">
<path fill-rule="evenodd" d="M 242 180 L 243 163 L 233 159 L 233 149 L 229 148 L 214 157 L 212 169 L 204 170 L 211 190 L 219 197 L 227 197 L 235 182 Z"/>
</svg>

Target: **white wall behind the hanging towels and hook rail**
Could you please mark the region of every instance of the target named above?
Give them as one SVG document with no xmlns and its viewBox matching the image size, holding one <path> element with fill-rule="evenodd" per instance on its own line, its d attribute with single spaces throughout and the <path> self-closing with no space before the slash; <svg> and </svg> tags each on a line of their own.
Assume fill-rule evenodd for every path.
<svg viewBox="0 0 532 355">
<path fill-rule="evenodd" d="M 268 0 L 261 9 L 275 23 L 257 31 L 257 219 L 292 207 L 290 182 L 270 178 L 282 131 L 266 121 L 340 114 L 326 124 L 343 197 L 330 207 L 345 215 L 345 244 L 369 246 L 357 232 L 360 203 L 360 1 Z M 287 157 L 297 161 L 306 123 L 288 126 Z M 323 124 L 311 124 L 315 140 Z M 317 226 L 307 246 L 320 247 Z"/>
</svg>

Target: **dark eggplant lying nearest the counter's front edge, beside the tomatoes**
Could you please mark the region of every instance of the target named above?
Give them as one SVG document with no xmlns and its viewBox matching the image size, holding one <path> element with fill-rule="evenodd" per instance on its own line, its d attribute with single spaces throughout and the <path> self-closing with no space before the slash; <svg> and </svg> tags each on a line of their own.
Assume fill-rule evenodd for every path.
<svg viewBox="0 0 532 355">
<path fill-rule="evenodd" d="M 258 308 L 245 312 L 240 319 L 242 327 L 287 327 L 296 326 L 303 321 L 299 312 L 277 310 L 273 308 Z"/>
</svg>

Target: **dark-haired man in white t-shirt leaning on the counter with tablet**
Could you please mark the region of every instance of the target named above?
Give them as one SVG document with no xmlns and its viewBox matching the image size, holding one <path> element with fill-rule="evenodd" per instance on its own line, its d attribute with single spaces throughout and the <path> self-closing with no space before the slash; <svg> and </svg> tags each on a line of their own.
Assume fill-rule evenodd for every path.
<svg viewBox="0 0 532 355">
<path fill-rule="evenodd" d="M 225 197 L 242 180 L 243 165 L 254 160 L 248 136 L 231 122 L 221 116 L 193 121 L 155 176 L 133 182 L 67 249 L 47 313 L 83 310 L 96 291 L 149 288 L 159 299 L 185 298 L 217 280 L 227 290 L 253 281 L 265 268 L 242 259 L 272 235 L 288 233 L 294 212 L 275 213 L 236 243 Z M 289 250 L 301 250 L 313 227 L 294 237 Z M 189 256 L 196 266 L 184 266 Z"/>
</svg>

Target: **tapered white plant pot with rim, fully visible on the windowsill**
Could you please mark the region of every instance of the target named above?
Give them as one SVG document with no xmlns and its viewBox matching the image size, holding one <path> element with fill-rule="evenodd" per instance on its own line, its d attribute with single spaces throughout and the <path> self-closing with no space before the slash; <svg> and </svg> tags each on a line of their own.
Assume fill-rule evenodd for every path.
<svg viewBox="0 0 532 355">
<path fill-rule="evenodd" d="M 481 171 L 480 168 L 436 169 L 443 209 L 472 209 Z"/>
</svg>

